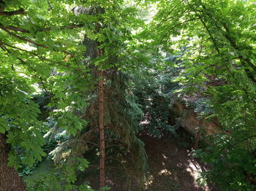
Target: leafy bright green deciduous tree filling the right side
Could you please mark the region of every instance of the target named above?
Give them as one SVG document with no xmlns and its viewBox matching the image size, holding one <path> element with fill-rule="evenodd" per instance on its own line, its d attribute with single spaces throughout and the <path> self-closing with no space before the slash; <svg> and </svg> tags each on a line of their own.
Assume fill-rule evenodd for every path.
<svg viewBox="0 0 256 191">
<path fill-rule="evenodd" d="M 154 43 L 174 55 L 186 50 L 176 82 L 187 87 L 185 93 L 208 97 L 210 117 L 229 132 L 198 152 L 213 165 L 203 176 L 224 190 L 254 190 L 255 1 L 161 1 L 157 6 Z"/>
</svg>

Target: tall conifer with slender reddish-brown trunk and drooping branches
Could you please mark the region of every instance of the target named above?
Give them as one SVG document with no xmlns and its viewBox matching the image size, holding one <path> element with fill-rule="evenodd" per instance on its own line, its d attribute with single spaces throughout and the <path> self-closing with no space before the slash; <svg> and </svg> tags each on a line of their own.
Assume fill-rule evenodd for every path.
<svg viewBox="0 0 256 191">
<path fill-rule="evenodd" d="M 77 10 L 78 14 L 94 18 L 86 31 L 91 35 L 86 35 L 83 41 L 86 46 L 84 63 L 98 85 L 86 93 L 89 105 L 85 112 L 80 112 L 80 117 L 89 124 L 53 153 L 59 160 L 61 153 L 67 151 L 67 145 L 72 150 L 70 155 L 76 156 L 88 153 L 97 156 L 99 149 L 100 187 L 105 184 L 105 160 L 108 163 L 115 160 L 118 168 L 121 165 L 126 169 L 130 186 L 135 176 L 140 180 L 146 176 L 146 153 L 142 141 L 136 137 L 138 122 L 132 114 L 138 108 L 127 95 L 125 75 L 125 67 L 135 65 L 126 51 L 129 44 L 134 43 L 131 31 L 138 27 L 140 20 L 131 16 L 136 10 L 125 7 L 123 1 L 116 1 L 116 4 L 96 1 Z"/>
</svg>

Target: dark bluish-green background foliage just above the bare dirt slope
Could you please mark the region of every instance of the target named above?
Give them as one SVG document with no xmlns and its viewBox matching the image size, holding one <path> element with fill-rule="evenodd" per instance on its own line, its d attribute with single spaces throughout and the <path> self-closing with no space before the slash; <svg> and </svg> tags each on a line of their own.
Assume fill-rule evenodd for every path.
<svg viewBox="0 0 256 191">
<path fill-rule="evenodd" d="M 170 125 L 170 91 L 175 83 L 170 82 L 173 72 L 142 68 L 132 75 L 132 88 L 137 97 L 143 117 L 140 130 L 147 130 L 152 136 L 160 138 L 164 130 L 174 133 Z"/>
</svg>

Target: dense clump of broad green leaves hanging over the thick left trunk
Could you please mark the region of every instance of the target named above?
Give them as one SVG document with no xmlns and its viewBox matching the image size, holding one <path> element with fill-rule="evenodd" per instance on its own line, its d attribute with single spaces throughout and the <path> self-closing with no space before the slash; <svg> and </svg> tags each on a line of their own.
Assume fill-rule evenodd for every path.
<svg viewBox="0 0 256 191">
<path fill-rule="evenodd" d="M 0 67 L 0 130 L 7 133 L 7 144 L 13 148 L 9 153 L 9 165 L 15 168 L 18 168 L 18 163 L 31 166 L 36 159 L 45 156 L 41 148 L 45 143 L 41 135 L 43 126 L 37 120 L 40 111 L 28 94 L 31 91 L 28 82 L 4 65 Z"/>
</svg>

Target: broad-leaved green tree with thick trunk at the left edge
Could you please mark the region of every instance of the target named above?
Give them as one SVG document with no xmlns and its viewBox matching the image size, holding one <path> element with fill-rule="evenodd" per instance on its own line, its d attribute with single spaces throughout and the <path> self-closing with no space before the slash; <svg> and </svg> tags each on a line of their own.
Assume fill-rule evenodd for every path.
<svg viewBox="0 0 256 191">
<path fill-rule="evenodd" d="M 82 102 L 77 99 L 80 95 L 63 93 L 70 89 L 68 85 L 88 78 L 85 67 L 78 63 L 83 53 L 77 42 L 79 28 L 83 26 L 79 22 L 83 18 L 75 16 L 67 6 L 72 6 L 72 2 L 1 1 L 0 183 L 3 190 L 25 190 L 26 185 L 14 168 L 19 163 L 32 165 L 35 159 L 45 156 L 41 148 L 45 142 L 44 125 L 37 120 L 39 109 L 31 100 L 36 83 L 37 90 L 54 95 L 53 101 L 59 100 L 55 104 L 59 112 L 55 114 L 66 123 L 70 133 L 75 134 L 83 124 L 64 109 L 72 101 L 78 105 Z M 72 31 L 73 28 L 78 31 Z M 59 75 L 50 76 L 53 69 L 66 72 L 68 85 L 59 82 Z M 56 83 L 54 87 L 53 83 Z M 87 88 L 84 84 L 80 90 Z M 67 126 L 70 121 L 71 127 Z M 7 167 L 7 154 L 8 165 L 14 168 Z"/>
</svg>

